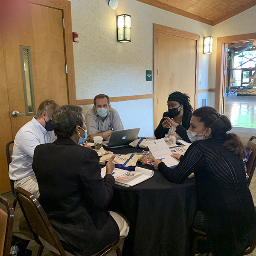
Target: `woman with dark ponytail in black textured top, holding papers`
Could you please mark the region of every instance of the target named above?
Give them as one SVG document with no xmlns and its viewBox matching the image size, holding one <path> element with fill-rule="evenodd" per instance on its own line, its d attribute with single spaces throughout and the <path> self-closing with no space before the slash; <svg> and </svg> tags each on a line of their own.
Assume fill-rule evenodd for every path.
<svg viewBox="0 0 256 256">
<path fill-rule="evenodd" d="M 193 225 L 207 234 L 213 256 L 242 256 L 256 236 L 256 212 L 243 163 L 245 148 L 236 134 L 227 134 L 231 128 L 227 116 L 214 108 L 198 108 L 189 127 L 192 145 L 184 156 L 174 154 L 180 163 L 169 169 L 154 160 L 154 167 L 173 183 L 195 173 L 201 207 Z"/>
</svg>

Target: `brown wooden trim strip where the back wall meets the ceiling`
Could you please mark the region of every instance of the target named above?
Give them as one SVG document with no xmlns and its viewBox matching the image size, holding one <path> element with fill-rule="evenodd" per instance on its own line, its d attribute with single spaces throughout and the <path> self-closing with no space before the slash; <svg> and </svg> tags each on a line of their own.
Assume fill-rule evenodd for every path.
<svg viewBox="0 0 256 256">
<path fill-rule="evenodd" d="M 178 9 L 178 8 L 174 7 L 174 6 L 170 6 L 167 3 L 158 2 L 157 0 L 137 0 L 137 1 L 141 2 L 141 3 L 149 4 L 151 6 L 154 6 L 154 7 L 169 11 L 169 12 L 176 13 L 178 15 L 190 18 L 192 20 L 200 21 L 202 23 L 205 23 L 205 24 L 208 24 L 208 25 L 211 25 L 211 26 L 213 24 L 212 20 L 208 20 L 206 18 L 200 17 L 200 16 L 192 14 L 190 12 L 183 11 L 181 9 Z"/>
</svg>

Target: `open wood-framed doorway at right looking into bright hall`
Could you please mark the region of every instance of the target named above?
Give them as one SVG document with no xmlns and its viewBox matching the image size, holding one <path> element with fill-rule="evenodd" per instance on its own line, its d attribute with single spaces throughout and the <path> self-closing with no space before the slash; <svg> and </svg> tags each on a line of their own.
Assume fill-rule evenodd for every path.
<svg viewBox="0 0 256 256">
<path fill-rule="evenodd" d="M 256 127 L 255 39 L 256 33 L 217 39 L 215 108 L 233 127 Z"/>
</svg>

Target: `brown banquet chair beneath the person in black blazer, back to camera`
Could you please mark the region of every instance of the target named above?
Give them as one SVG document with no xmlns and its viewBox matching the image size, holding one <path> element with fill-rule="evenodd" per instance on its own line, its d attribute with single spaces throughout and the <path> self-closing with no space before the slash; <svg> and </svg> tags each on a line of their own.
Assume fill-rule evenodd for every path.
<svg viewBox="0 0 256 256">
<path fill-rule="evenodd" d="M 73 256 L 73 254 L 64 250 L 61 241 L 58 239 L 55 230 L 38 200 L 25 189 L 17 187 L 15 190 L 29 230 L 34 240 L 39 244 L 37 256 L 42 255 L 44 247 L 54 256 Z M 121 256 L 121 250 L 116 246 L 118 242 L 119 239 L 93 256 L 105 256 L 113 250 L 116 251 L 117 256 Z"/>
</svg>

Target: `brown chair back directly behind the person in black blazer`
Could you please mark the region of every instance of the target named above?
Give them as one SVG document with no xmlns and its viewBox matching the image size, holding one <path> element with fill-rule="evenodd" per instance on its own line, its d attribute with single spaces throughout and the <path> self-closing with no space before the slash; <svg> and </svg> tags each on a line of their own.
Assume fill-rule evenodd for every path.
<svg viewBox="0 0 256 256">
<path fill-rule="evenodd" d="M 15 190 L 23 215 L 26 218 L 29 230 L 32 232 L 35 241 L 38 244 L 42 244 L 39 238 L 41 237 L 58 250 L 61 256 L 67 256 L 38 200 L 25 189 L 17 187 Z"/>
</svg>

